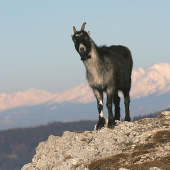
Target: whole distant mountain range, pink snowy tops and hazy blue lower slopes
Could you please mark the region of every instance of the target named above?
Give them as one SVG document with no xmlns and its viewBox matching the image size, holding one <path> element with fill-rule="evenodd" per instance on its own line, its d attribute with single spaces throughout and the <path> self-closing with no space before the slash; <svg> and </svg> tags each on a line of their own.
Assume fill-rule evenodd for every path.
<svg viewBox="0 0 170 170">
<path fill-rule="evenodd" d="M 169 108 L 170 64 L 133 69 L 130 95 L 132 117 Z M 122 118 L 123 105 L 122 98 Z M 13 94 L 2 93 L 0 129 L 36 126 L 51 121 L 97 120 L 96 108 L 87 82 L 56 94 L 34 88 Z M 107 110 L 104 112 L 106 117 Z"/>
</svg>

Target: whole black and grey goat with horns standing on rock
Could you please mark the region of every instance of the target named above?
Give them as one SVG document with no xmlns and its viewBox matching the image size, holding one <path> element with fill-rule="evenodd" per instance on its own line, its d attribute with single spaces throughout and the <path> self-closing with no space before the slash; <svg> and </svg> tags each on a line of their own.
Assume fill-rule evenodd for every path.
<svg viewBox="0 0 170 170">
<path fill-rule="evenodd" d="M 130 121 L 129 92 L 131 89 L 131 72 L 133 60 L 130 50 L 124 46 L 98 47 L 90 37 L 90 32 L 84 31 L 85 22 L 81 30 L 77 31 L 73 26 L 72 40 L 75 49 L 80 55 L 86 67 L 86 78 L 89 86 L 97 99 L 99 119 L 96 129 L 105 124 L 103 116 L 103 92 L 106 92 L 108 108 L 108 128 L 115 126 L 115 120 L 120 120 L 120 97 L 118 91 L 122 91 L 125 104 L 125 121 Z M 115 105 L 113 117 L 112 102 Z"/>
</svg>

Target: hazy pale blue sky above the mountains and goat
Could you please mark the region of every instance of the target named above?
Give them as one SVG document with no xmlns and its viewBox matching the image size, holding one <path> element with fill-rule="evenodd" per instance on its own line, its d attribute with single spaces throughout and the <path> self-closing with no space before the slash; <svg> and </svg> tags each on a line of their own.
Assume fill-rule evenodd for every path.
<svg viewBox="0 0 170 170">
<path fill-rule="evenodd" d="M 170 63 L 169 0 L 0 0 L 0 93 L 52 93 L 86 81 L 71 35 L 125 45 L 134 68 Z"/>
</svg>

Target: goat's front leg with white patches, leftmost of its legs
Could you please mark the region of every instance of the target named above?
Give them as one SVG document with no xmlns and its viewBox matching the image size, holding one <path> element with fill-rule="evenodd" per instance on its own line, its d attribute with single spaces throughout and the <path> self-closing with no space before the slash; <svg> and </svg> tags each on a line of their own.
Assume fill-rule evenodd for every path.
<svg viewBox="0 0 170 170">
<path fill-rule="evenodd" d="M 99 120 L 97 122 L 97 126 L 96 126 L 96 130 L 101 129 L 102 127 L 104 127 L 105 124 L 105 119 L 104 119 L 104 115 L 103 115 L 103 92 L 97 90 L 97 89 L 93 89 L 94 95 L 97 99 L 97 108 L 98 108 L 98 112 L 99 112 Z"/>
</svg>

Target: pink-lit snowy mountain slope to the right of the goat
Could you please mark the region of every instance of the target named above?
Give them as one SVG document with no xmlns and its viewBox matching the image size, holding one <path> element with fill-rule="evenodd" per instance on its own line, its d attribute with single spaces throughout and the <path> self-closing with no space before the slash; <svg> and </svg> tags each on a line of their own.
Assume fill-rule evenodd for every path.
<svg viewBox="0 0 170 170">
<path fill-rule="evenodd" d="M 170 91 L 170 64 L 161 63 L 152 67 L 133 71 L 132 90 L 133 99 L 145 97 L 155 92 L 158 95 Z"/>
</svg>

